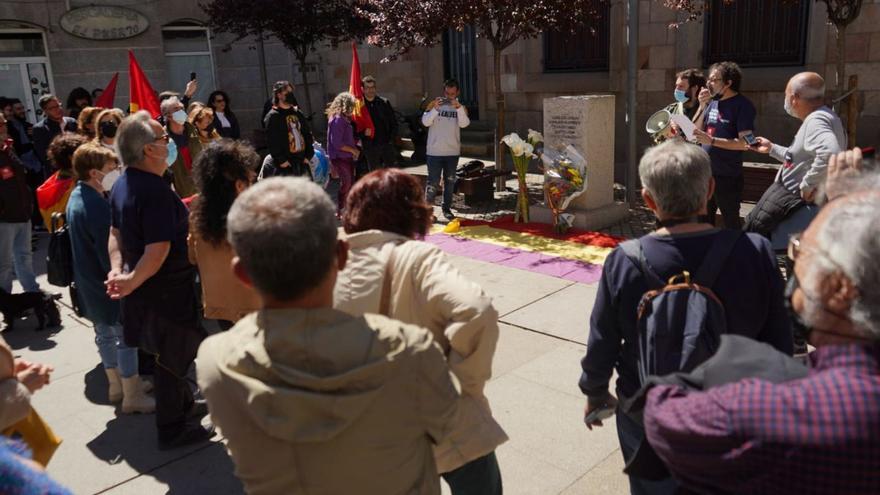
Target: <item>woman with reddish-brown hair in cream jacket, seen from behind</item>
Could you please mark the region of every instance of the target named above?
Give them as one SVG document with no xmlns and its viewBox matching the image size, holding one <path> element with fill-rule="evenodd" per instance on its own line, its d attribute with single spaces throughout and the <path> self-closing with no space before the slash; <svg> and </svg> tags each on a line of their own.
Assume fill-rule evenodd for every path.
<svg viewBox="0 0 880 495">
<path fill-rule="evenodd" d="M 500 495 L 495 449 L 507 435 L 483 393 L 492 375 L 498 312 L 443 251 L 418 240 L 428 232 L 431 211 L 424 188 L 406 172 L 380 169 L 358 181 L 342 217 L 349 254 L 336 279 L 334 306 L 355 316 L 383 314 L 433 334 L 461 382 L 458 419 L 434 449 L 438 470 L 453 495 Z"/>
</svg>

